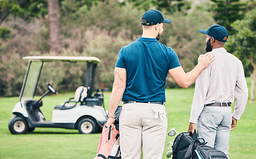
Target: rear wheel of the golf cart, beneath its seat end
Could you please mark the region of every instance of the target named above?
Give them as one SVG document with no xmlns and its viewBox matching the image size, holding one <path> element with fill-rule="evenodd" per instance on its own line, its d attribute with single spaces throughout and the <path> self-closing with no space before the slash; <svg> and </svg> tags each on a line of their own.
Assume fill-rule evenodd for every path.
<svg viewBox="0 0 256 159">
<path fill-rule="evenodd" d="M 92 134 L 97 131 L 95 122 L 88 118 L 78 121 L 77 129 L 81 134 Z"/>
</svg>

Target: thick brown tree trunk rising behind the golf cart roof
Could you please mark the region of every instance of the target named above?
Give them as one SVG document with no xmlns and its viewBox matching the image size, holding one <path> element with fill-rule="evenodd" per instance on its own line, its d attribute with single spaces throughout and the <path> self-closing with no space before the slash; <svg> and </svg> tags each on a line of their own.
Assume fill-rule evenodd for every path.
<svg viewBox="0 0 256 159">
<path fill-rule="evenodd" d="M 49 43 L 51 52 L 59 52 L 59 0 L 48 1 Z"/>
</svg>

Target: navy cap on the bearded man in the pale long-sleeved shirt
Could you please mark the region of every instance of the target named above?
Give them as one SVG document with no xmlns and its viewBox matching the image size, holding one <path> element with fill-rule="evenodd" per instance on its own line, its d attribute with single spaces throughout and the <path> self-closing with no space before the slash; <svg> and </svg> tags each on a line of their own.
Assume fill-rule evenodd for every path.
<svg viewBox="0 0 256 159">
<path fill-rule="evenodd" d="M 225 36 L 228 36 L 227 29 L 222 25 L 212 25 L 208 30 L 200 29 L 199 32 L 208 34 L 220 42 L 227 42 L 227 40 L 223 40 Z"/>
</svg>

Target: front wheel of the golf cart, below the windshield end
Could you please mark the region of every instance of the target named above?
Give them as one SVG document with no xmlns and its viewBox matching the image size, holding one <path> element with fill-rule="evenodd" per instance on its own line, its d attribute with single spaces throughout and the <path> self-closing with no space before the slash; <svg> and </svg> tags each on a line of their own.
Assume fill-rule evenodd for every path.
<svg viewBox="0 0 256 159">
<path fill-rule="evenodd" d="M 25 134 L 27 129 L 28 125 L 23 117 L 15 117 L 9 122 L 9 131 L 12 134 Z"/>
</svg>

